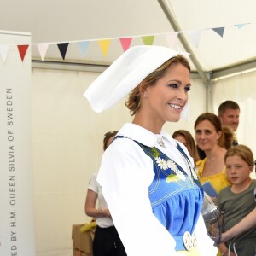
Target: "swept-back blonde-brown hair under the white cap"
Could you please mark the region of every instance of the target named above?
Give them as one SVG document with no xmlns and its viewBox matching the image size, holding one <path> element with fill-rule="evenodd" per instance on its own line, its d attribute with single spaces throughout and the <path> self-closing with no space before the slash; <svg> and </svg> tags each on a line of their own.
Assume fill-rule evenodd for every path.
<svg viewBox="0 0 256 256">
<path fill-rule="evenodd" d="M 148 86 L 156 84 L 157 80 L 165 75 L 166 69 L 168 67 L 171 67 L 172 65 L 177 65 L 178 63 L 182 64 L 184 67 L 187 67 L 190 72 L 189 61 L 183 55 L 177 55 L 166 61 L 157 69 L 155 69 L 145 79 L 143 79 L 143 81 L 138 84 L 137 87 L 131 90 L 128 100 L 125 102 L 125 106 L 130 109 L 131 116 L 137 113 L 137 110 L 140 108 L 142 88 L 143 90 L 145 90 L 146 88 L 148 88 Z"/>
</svg>

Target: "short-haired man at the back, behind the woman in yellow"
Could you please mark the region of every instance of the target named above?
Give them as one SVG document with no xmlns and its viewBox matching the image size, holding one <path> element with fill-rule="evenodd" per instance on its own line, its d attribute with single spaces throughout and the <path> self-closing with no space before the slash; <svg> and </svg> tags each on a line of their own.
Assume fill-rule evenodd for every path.
<svg viewBox="0 0 256 256">
<path fill-rule="evenodd" d="M 228 126 L 234 131 L 235 138 L 232 146 L 238 145 L 236 139 L 236 130 L 239 125 L 240 108 L 236 102 L 225 101 L 218 107 L 218 119 L 221 125 Z"/>
</svg>

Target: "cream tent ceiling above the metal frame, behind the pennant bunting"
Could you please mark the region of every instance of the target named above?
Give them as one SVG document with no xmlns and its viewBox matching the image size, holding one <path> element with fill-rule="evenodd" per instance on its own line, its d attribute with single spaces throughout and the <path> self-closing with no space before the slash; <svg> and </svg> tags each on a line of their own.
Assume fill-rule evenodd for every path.
<svg viewBox="0 0 256 256">
<path fill-rule="evenodd" d="M 217 77 L 219 71 L 234 72 L 227 68 L 241 64 L 248 67 L 248 62 L 250 68 L 254 67 L 253 0 L 47 0 L 40 4 L 25 0 L 17 6 L 7 0 L 2 2 L 1 29 L 31 32 L 33 44 L 50 43 L 45 61 L 62 61 L 51 43 L 69 42 L 66 62 L 108 65 L 122 52 L 118 38 L 132 37 L 134 45 L 143 44 L 141 36 L 154 35 L 154 44 L 165 45 L 166 34 L 176 31 L 179 40 L 174 48 L 191 53 L 197 72 Z M 224 34 L 220 36 L 212 30 L 216 28 L 224 30 Z M 198 47 L 193 37 L 199 40 Z M 108 54 L 103 56 L 97 40 L 106 38 L 113 40 Z M 84 40 L 91 40 L 85 58 L 72 44 Z M 33 49 L 32 59 L 39 59 L 37 49 Z"/>
</svg>

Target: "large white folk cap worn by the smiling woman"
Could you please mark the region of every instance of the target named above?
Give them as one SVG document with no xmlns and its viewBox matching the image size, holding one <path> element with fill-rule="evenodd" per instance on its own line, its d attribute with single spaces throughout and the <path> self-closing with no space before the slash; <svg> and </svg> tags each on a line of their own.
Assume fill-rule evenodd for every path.
<svg viewBox="0 0 256 256">
<path fill-rule="evenodd" d="M 178 54 L 189 55 L 163 46 L 131 47 L 90 84 L 84 92 L 84 97 L 96 113 L 101 113 L 122 100 L 148 74 Z M 187 105 L 183 108 L 183 119 L 189 118 Z"/>
</svg>

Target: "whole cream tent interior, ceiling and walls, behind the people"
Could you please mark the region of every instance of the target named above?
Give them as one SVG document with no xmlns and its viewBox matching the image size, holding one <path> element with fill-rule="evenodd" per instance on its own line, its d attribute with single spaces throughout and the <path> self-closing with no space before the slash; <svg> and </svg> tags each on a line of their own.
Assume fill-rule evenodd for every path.
<svg viewBox="0 0 256 256">
<path fill-rule="evenodd" d="M 199 114 L 217 113 L 220 102 L 234 100 L 241 107 L 238 141 L 256 156 L 255 8 L 254 0 L 1 1 L 0 29 L 32 34 L 37 256 L 72 255 L 72 224 L 90 221 L 84 198 L 100 164 L 103 134 L 131 121 L 124 102 L 96 114 L 82 96 L 123 52 L 119 38 L 132 38 L 132 46 L 154 36 L 153 44 L 170 46 L 166 36 L 177 32 L 172 48 L 191 54 L 190 120 L 166 124 L 166 131 L 187 129 L 194 135 Z M 99 44 L 103 39 L 110 40 L 106 55 Z M 85 56 L 79 42 L 89 42 Z M 41 43 L 49 44 L 44 61 Z M 57 47 L 61 43 L 69 43 L 65 60 Z"/>
</svg>

